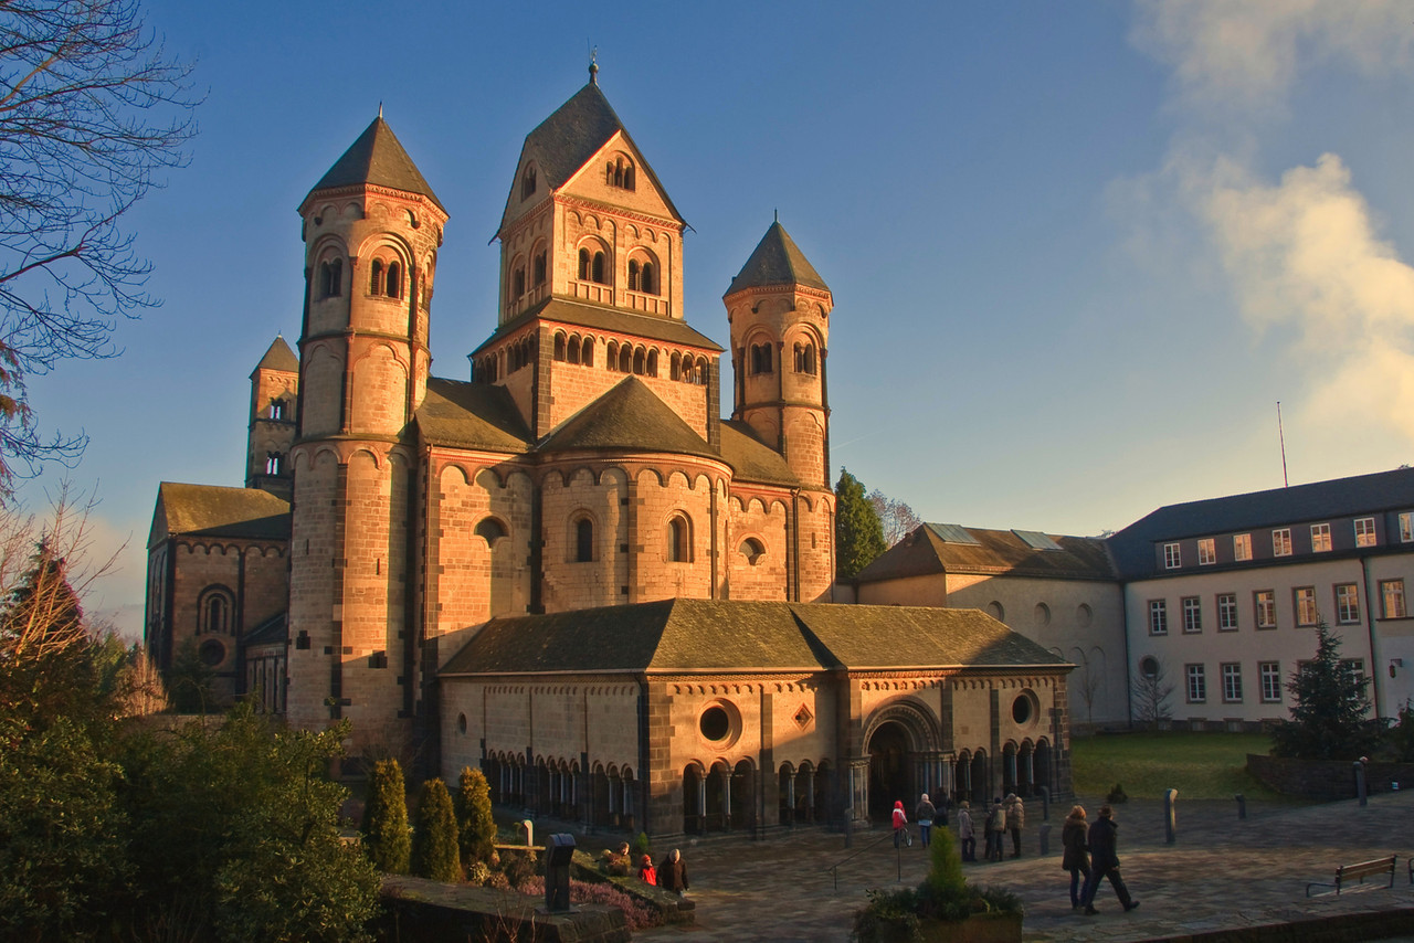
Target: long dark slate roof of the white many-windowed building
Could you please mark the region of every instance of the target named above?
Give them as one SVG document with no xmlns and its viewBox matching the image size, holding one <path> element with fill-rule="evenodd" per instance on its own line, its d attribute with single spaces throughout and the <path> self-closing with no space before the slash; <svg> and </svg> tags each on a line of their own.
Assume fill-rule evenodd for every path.
<svg viewBox="0 0 1414 943">
<path fill-rule="evenodd" d="M 1109 539 L 1126 580 L 1158 570 L 1157 541 L 1414 509 L 1414 468 L 1165 505 Z"/>
</svg>

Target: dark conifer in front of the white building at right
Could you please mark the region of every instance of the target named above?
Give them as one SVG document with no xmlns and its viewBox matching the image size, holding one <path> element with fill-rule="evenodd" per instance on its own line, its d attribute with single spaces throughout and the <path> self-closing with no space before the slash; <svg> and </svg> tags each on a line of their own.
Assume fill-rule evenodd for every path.
<svg viewBox="0 0 1414 943">
<path fill-rule="evenodd" d="M 1316 656 L 1287 684 L 1295 703 L 1291 720 L 1273 731 L 1273 752 L 1299 759 L 1355 759 L 1380 741 L 1380 725 L 1366 715 L 1366 681 L 1340 660 L 1340 639 L 1325 619 L 1316 625 Z"/>
</svg>

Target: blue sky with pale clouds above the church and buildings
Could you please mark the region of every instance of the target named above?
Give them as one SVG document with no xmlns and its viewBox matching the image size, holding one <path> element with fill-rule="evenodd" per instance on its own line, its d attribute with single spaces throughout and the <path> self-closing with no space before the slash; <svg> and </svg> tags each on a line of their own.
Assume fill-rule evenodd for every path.
<svg viewBox="0 0 1414 943">
<path fill-rule="evenodd" d="M 467 379 L 520 146 L 591 48 L 691 226 L 689 324 L 727 341 L 779 213 L 834 294 L 836 474 L 922 519 L 1100 534 L 1414 461 L 1407 3 L 144 8 L 205 95 L 189 165 L 124 223 L 164 304 L 31 380 L 41 428 L 89 444 L 20 491 L 98 499 L 116 566 L 86 604 L 134 636 L 158 482 L 243 484 L 308 189 L 382 105 L 451 213 L 433 373 Z"/>
</svg>

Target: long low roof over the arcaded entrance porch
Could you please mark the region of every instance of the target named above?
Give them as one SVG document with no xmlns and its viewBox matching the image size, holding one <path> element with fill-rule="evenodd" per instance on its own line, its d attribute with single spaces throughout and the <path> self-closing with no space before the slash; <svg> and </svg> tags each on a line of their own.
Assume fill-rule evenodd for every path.
<svg viewBox="0 0 1414 943">
<path fill-rule="evenodd" d="M 905 667 L 1069 663 L 976 609 L 662 599 L 492 619 L 440 674 Z"/>
</svg>

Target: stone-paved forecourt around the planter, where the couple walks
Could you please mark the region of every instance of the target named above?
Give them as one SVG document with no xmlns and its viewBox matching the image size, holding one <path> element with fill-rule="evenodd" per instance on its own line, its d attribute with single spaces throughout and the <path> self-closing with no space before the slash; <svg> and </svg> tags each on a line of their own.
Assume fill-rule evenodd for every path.
<svg viewBox="0 0 1414 943">
<path fill-rule="evenodd" d="M 1082 799 L 1093 819 L 1099 803 Z M 1109 882 L 1096 896 L 1097 916 L 1070 910 L 1069 875 L 1060 869 L 1060 823 L 1069 806 L 1052 807 L 1051 854 L 1038 855 L 1041 806 L 1028 803 L 1022 857 L 967 864 L 969 881 L 1004 886 L 1027 903 L 1028 942 L 1162 940 L 1217 929 L 1287 923 L 1367 910 L 1403 910 L 1397 933 L 1414 942 L 1414 888 L 1407 855 L 1414 854 L 1414 792 L 1319 806 L 1249 804 L 1237 819 L 1233 802 L 1178 803 L 1178 841 L 1164 841 L 1162 804 L 1131 800 L 1116 807 L 1120 861 L 1138 909 L 1124 913 Z M 1010 843 L 1008 843 L 1010 845 Z M 802 831 L 752 841 L 687 840 L 697 903 L 691 927 L 656 927 L 635 940 L 847 940 L 865 889 L 916 885 L 926 872 L 921 844 L 895 854 L 885 830 L 855 833 L 844 848 L 839 833 Z M 663 854 L 666 848 L 655 848 Z M 1373 886 L 1308 899 L 1308 881 L 1332 881 L 1339 864 L 1397 854 L 1394 889 Z M 839 867 L 834 886 L 829 865 Z M 1396 937 L 1386 937 L 1396 939 Z"/>
</svg>

